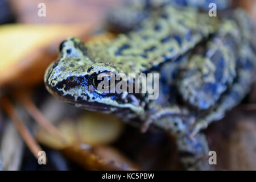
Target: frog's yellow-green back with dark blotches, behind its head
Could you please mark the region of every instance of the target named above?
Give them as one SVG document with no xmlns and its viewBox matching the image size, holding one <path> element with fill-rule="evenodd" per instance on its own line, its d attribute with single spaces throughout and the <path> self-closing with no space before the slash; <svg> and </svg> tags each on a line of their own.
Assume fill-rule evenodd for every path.
<svg viewBox="0 0 256 182">
<path fill-rule="evenodd" d="M 147 72 L 174 61 L 213 34 L 218 19 L 192 7 L 166 6 L 129 34 L 104 44 L 86 44 L 93 63 L 111 62 L 118 72 Z"/>
</svg>

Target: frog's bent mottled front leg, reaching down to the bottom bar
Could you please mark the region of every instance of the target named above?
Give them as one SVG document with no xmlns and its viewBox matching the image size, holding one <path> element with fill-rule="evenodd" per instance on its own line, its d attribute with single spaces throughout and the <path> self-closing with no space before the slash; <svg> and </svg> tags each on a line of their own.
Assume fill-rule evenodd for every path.
<svg viewBox="0 0 256 182">
<path fill-rule="evenodd" d="M 197 134 L 191 138 L 191 126 L 196 118 L 189 115 L 186 109 L 180 109 L 177 106 L 167 107 L 159 110 L 149 119 L 155 126 L 175 136 L 180 161 L 186 169 L 210 169 L 207 160 L 209 152 L 207 140 L 203 134 Z"/>
</svg>

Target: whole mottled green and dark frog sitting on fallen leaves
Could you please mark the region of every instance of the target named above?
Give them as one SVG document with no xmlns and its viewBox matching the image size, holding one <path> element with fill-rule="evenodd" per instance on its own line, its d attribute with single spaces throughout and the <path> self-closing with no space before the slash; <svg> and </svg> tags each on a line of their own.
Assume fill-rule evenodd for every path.
<svg viewBox="0 0 256 182">
<path fill-rule="evenodd" d="M 199 133 L 240 103 L 253 82 L 254 50 L 246 14 L 209 17 L 195 7 L 167 5 L 137 30 L 103 43 L 69 38 L 44 81 L 60 100 L 87 110 L 141 118 L 175 135 L 187 169 L 207 169 L 208 144 Z M 159 98 L 147 94 L 104 93 L 97 75 L 160 73 Z"/>
</svg>

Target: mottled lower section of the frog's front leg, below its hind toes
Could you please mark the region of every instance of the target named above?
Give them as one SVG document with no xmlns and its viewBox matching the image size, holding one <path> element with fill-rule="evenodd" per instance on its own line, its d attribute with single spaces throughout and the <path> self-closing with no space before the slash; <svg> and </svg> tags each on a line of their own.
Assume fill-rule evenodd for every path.
<svg viewBox="0 0 256 182">
<path fill-rule="evenodd" d="M 188 170 L 209 170 L 209 147 L 204 134 L 189 135 L 177 138 L 180 161 Z"/>
</svg>

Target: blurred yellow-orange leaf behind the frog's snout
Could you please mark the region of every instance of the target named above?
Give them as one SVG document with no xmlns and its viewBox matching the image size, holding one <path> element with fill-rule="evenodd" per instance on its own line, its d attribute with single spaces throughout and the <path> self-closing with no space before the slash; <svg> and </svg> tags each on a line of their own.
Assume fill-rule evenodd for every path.
<svg viewBox="0 0 256 182">
<path fill-rule="evenodd" d="M 28 86 L 43 82 L 45 69 L 57 58 L 60 42 L 69 36 L 83 38 L 92 29 L 81 25 L 1 26 L 0 86 Z"/>
</svg>

